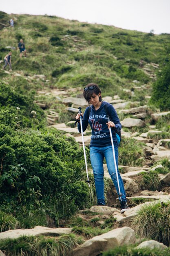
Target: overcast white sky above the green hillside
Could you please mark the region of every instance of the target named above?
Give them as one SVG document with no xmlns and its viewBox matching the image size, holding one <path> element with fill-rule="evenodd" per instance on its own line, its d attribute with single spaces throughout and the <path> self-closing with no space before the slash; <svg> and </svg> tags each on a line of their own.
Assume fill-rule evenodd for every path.
<svg viewBox="0 0 170 256">
<path fill-rule="evenodd" d="M 0 0 L 0 11 L 170 33 L 170 0 Z"/>
</svg>

